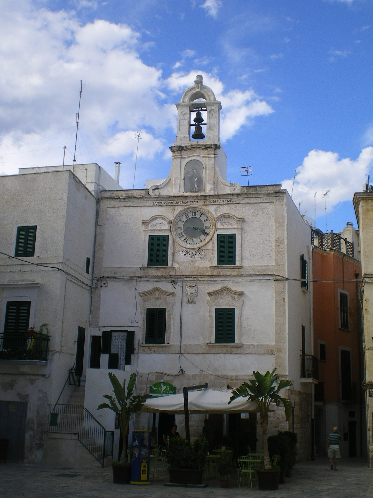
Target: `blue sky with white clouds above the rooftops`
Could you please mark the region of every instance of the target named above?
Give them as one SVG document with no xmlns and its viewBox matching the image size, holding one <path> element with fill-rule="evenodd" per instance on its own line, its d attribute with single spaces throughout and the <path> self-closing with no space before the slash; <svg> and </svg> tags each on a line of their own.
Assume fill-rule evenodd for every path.
<svg viewBox="0 0 373 498">
<path fill-rule="evenodd" d="M 176 108 L 196 74 L 221 100 L 227 176 L 282 183 L 325 230 L 356 220 L 373 161 L 371 0 L 0 0 L 0 172 L 97 162 L 135 186 L 171 165 Z M 64 130 L 64 131 L 63 131 Z M 73 133 L 73 134 L 72 134 Z M 53 135 L 53 136 L 49 136 Z M 47 137 L 47 138 L 46 138 Z M 32 142 L 32 143 L 29 143 Z M 28 144 L 28 145 L 23 145 Z M 19 147 L 22 145 L 22 147 Z M 71 163 L 71 157 L 69 159 Z"/>
</svg>

